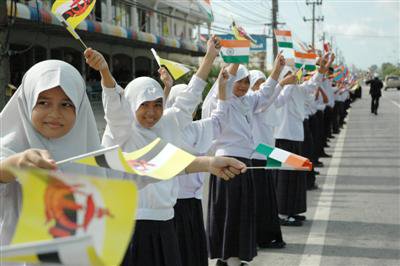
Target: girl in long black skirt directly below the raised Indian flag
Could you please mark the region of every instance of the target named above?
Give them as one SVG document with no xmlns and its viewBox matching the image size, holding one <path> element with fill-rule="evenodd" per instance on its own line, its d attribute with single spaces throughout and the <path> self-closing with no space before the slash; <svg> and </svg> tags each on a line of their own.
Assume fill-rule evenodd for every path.
<svg viewBox="0 0 400 266">
<path fill-rule="evenodd" d="M 228 125 L 215 143 L 217 156 L 231 156 L 251 165 L 255 146 L 252 136 L 253 115 L 265 108 L 279 95 L 275 89 L 285 59 L 279 55 L 271 77 L 254 94 L 247 94 L 249 72 L 243 65 L 231 65 L 227 85 L 230 109 Z M 209 117 L 216 106 L 217 84 L 214 84 L 203 104 L 203 118 Z M 257 255 L 255 228 L 255 195 L 250 172 L 228 182 L 210 177 L 207 231 L 210 257 L 218 265 L 247 263 Z"/>
</svg>

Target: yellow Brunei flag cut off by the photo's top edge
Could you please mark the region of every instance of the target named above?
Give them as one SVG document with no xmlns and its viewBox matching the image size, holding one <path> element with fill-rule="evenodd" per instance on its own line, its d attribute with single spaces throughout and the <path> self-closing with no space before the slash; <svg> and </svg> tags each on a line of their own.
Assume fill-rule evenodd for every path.
<svg viewBox="0 0 400 266">
<path fill-rule="evenodd" d="M 75 28 L 90 14 L 96 0 L 56 0 L 51 12 L 75 39 L 80 39 Z"/>
</svg>

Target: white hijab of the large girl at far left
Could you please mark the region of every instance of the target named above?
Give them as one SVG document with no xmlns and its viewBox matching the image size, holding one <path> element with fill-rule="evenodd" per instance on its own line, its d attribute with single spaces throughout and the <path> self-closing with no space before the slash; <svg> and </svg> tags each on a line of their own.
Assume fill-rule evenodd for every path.
<svg viewBox="0 0 400 266">
<path fill-rule="evenodd" d="M 74 127 L 65 136 L 47 139 L 33 127 L 32 110 L 39 94 L 60 86 L 75 106 Z M 47 60 L 31 67 L 0 114 L 0 160 L 30 148 L 48 150 L 56 161 L 97 150 L 100 139 L 85 83 L 71 65 Z M 99 174 L 97 169 L 76 164 L 60 166 L 61 171 Z M 104 174 L 104 172 L 101 172 Z M 21 187 L 17 181 L 0 184 L 0 245 L 7 245 L 15 230 L 21 207 Z"/>
</svg>

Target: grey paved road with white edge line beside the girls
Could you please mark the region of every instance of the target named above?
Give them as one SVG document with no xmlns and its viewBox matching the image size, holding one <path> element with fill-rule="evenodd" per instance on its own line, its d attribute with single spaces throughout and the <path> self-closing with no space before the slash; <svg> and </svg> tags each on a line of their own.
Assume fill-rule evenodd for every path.
<svg viewBox="0 0 400 266">
<path fill-rule="evenodd" d="M 251 265 L 400 265 L 400 92 L 384 92 L 378 116 L 363 96 L 318 169 L 309 220 L 283 227 L 287 247 L 259 250 Z"/>
</svg>

